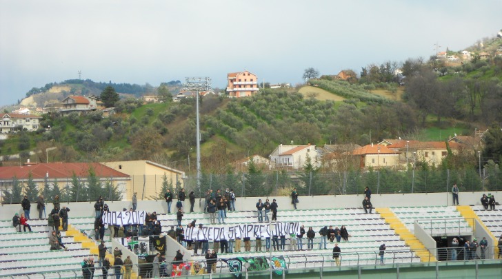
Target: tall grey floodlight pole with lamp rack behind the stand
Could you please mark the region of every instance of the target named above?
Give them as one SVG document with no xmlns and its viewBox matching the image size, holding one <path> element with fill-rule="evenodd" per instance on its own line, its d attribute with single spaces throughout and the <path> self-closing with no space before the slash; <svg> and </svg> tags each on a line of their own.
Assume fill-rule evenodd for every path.
<svg viewBox="0 0 502 279">
<path fill-rule="evenodd" d="M 196 141 L 197 141 L 197 189 L 201 194 L 201 127 L 199 122 L 199 94 L 203 90 L 210 90 L 211 79 L 208 77 L 186 78 L 185 86 L 188 91 L 195 92 L 195 114 L 196 114 Z M 189 155 L 190 156 L 190 155 Z"/>
</svg>

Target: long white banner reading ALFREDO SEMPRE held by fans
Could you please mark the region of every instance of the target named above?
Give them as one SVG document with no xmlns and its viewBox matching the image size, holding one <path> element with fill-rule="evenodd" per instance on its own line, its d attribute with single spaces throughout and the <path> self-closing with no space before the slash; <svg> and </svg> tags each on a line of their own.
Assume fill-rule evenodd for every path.
<svg viewBox="0 0 502 279">
<path fill-rule="evenodd" d="M 235 238 L 270 238 L 300 234 L 300 223 L 285 222 L 268 224 L 237 225 L 225 227 L 186 227 L 185 240 L 230 240 Z"/>
</svg>

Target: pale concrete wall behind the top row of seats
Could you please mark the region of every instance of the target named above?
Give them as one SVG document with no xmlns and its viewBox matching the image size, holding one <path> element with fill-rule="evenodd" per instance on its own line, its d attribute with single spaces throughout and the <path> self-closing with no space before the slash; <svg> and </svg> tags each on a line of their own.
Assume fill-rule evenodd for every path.
<svg viewBox="0 0 502 279">
<path fill-rule="evenodd" d="M 498 192 L 492 192 L 495 196 Z M 459 201 L 461 205 L 481 205 L 480 198 L 483 192 L 461 192 Z M 363 195 L 339 195 L 339 196 L 299 196 L 300 203 L 298 209 L 328 209 L 328 208 L 348 208 L 358 207 L 362 210 Z M 237 198 L 235 207 L 238 211 L 255 210 L 258 199 L 265 200 L 266 197 L 249 197 Z M 291 198 L 287 196 L 273 197 L 277 199 L 279 205 L 278 216 L 281 216 L 281 210 L 291 210 Z M 502 198 L 499 198 L 502 199 Z M 432 194 L 373 194 L 371 202 L 374 207 L 404 207 L 404 206 L 437 206 L 437 205 L 452 205 L 452 195 L 448 193 L 432 193 Z M 106 202 L 111 211 L 121 211 L 123 208 L 130 209 L 132 203 L 130 201 L 115 201 Z M 94 216 L 94 201 L 81 203 L 61 203 L 61 207 L 66 205 L 71 210 L 68 213 L 72 217 L 92 217 Z M 197 198 L 195 200 L 194 211 L 203 211 L 204 201 Z M 185 200 L 185 209 L 190 208 L 190 202 Z M 157 214 L 167 213 L 167 205 L 164 200 L 138 200 L 138 209 L 147 212 L 156 211 Z M 174 203 L 171 210 L 174 209 Z M 52 204 L 46 207 L 46 211 L 52 210 Z M 0 220 L 10 220 L 14 213 L 21 214 L 22 208 L 20 204 L 1 205 Z M 32 204 L 31 216 L 37 216 L 37 206 Z"/>
</svg>

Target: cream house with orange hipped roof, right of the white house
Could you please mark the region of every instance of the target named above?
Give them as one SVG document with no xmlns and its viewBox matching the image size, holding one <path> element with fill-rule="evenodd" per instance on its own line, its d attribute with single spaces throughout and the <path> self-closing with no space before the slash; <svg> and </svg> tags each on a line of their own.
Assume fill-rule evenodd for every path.
<svg viewBox="0 0 502 279">
<path fill-rule="evenodd" d="M 399 167 L 399 154 L 385 145 L 365 145 L 352 152 L 353 156 L 359 157 L 359 167 Z"/>
</svg>

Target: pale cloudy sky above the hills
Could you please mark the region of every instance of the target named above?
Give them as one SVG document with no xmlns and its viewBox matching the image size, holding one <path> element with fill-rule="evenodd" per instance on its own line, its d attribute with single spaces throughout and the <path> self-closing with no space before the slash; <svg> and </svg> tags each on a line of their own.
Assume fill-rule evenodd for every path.
<svg viewBox="0 0 502 279">
<path fill-rule="evenodd" d="M 0 106 L 66 79 L 149 83 L 229 72 L 303 82 L 463 50 L 502 28 L 500 0 L 0 0 Z"/>
</svg>

